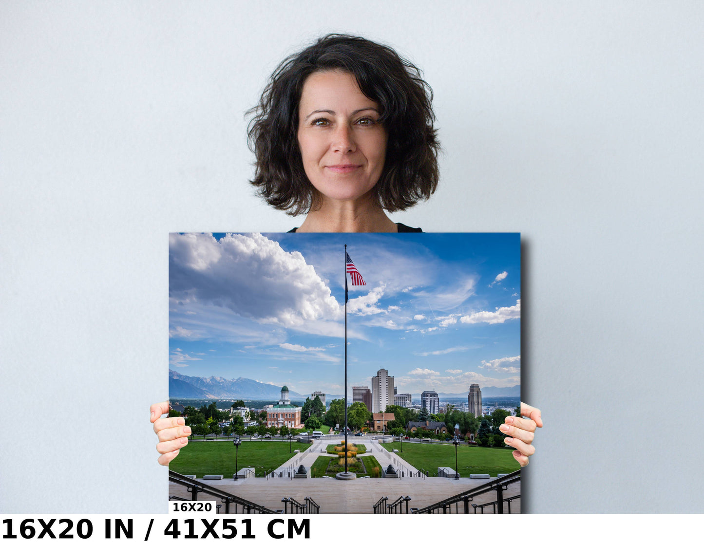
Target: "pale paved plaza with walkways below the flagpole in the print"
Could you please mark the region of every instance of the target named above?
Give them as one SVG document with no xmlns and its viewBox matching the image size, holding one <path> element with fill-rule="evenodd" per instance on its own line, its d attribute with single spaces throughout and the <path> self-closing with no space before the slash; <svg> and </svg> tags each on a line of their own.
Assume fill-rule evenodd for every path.
<svg viewBox="0 0 704 544">
<path fill-rule="evenodd" d="M 337 439 L 339 436 L 335 438 Z M 303 502 L 304 498 L 310 497 L 320 505 L 321 514 L 371 514 L 373 506 L 382 497 L 388 497 L 389 503 L 391 503 L 401 495 L 410 496 L 409 507 L 422 508 L 494 480 L 467 477 L 458 480 L 439 477 L 409 478 L 408 474 L 416 472 L 416 470 L 401 457 L 387 452 L 375 440 L 368 438 L 354 438 L 354 440 L 367 447 L 367 453 L 359 457 L 373 455 L 382 467 L 386 468 L 389 464 L 393 464 L 396 471 L 403 473 L 404 477 L 401 479 L 357 478 L 351 481 L 341 481 L 334 478 L 289 479 L 284 477 L 247 478 L 235 481 L 230 474 L 224 475 L 230 476 L 229 478 L 208 480 L 204 483 L 272 510 L 284 507 L 282 503 L 284 497 L 294 498 L 298 502 Z M 297 469 L 300 464 L 303 464 L 310 472 L 310 466 L 319 455 L 325 455 L 325 448 L 329 443 L 331 443 L 329 440 L 315 441 L 308 450 L 298 453 L 286 464 L 279 467 L 277 472 L 287 474 L 291 467 Z M 512 484 L 503 493 L 506 498 L 520 495 L 520 482 Z M 189 496 L 183 486 L 175 483 L 169 483 L 169 495 Z M 213 499 L 208 497 L 206 493 L 201 493 L 199 500 Z M 478 495 L 470 501 L 470 504 L 484 504 L 493 500 L 496 500 L 496 493 L 489 492 Z M 485 511 L 492 512 L 492 508 L 489 507 Z M 225 512 L 224 508 L 221 509 L 221 512 Z M 455 507 L 452 508 L 452 512 L 455 512 Z M 463 512 L 461 504 L 460 512 Z M 471 507 L 470 512 L 473 512 Z M 520 513 L 520 498 L 511 502 L 511 513 Z"/>
</svg>

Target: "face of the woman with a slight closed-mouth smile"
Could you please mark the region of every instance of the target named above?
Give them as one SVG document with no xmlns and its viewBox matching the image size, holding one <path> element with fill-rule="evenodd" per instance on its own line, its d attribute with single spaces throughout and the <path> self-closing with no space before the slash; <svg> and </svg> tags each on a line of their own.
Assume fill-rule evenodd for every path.
<svg viewBox="0 0 704 544">
<path fill-rule="evenodd" d="M 381 113 L 348 72 L 308 76 L 298 106 L 298 146 L 306 176 L 324 199 L 354 201 L 379 181 L 387 139 Z"/>
</svg>

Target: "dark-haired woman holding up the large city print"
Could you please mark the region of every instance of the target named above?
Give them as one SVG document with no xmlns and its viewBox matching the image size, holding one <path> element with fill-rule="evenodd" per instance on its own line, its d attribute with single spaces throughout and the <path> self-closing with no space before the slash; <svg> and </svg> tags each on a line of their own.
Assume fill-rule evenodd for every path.
<svg viewBox="0 0 704 544">
<path fill-rule="evenodd" d="M 252 184 L 265 201 L 306 218 L 291 232 L 422 232 L 386 211 L 410 208 L 438 183 L 432 91 L 393 49 L 329 34 L 285 59 L 251 110 Z M 181 417 L 152 405 L 160 464 L 187 444 Z M 540 410 L 521 403 L 501 431 L 522 467 L 533 455 Z"/>
</svg>

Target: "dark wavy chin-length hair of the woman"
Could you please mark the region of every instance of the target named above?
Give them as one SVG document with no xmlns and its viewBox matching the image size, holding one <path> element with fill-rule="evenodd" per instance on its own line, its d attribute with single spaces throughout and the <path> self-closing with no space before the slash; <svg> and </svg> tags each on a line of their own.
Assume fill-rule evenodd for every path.
<svg viewBox="0 0 704 544">
<path fill-rule="evenodd" d="M 256 156 L 251 184 L 267 203 L 289 215 L 318 208 L 320 196 L 308 181 L 298 148 L 298 103 L 314 72 L 344 70 L 367 98 L 382 107 L 389 141 L 374 196 L 385 210 L 405 210 L 437 187 L 440 150 L 433 127 L 432 89 L 420 70 L 389 46 L 346 34 L 327 34 L 285 58 L 271 76 L 247 131 Z"/>
</svg>

